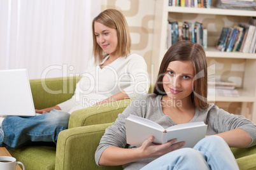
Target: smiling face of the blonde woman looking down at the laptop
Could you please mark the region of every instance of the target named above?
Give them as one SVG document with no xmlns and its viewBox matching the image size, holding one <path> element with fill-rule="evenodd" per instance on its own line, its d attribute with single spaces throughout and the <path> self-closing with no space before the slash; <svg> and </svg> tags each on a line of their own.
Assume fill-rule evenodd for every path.
<svg viewBox="0 0 256 170">
<path fill-rule="evenodd" d="M 101 46 L 104 53 L 111 57 L 118 56 L 118 36 L 117 29 L 106 27 L 102 23 L 94 23 L 94 34 L 96 36 L 97 44 Z"/>
</svg>

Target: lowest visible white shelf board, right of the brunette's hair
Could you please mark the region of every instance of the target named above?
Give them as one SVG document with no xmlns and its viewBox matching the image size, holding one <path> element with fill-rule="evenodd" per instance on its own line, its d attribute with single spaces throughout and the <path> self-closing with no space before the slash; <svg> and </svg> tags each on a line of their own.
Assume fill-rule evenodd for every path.
<svg viewBox="0 0 256 170">
<path fill-rule="evenodd" d="M 237 89 L 239 96 L 208 96 L 208 101 L 229 101 L 229 102 L 255 102 L 256 98 L 252 93 L 245 91 L 244 89 Z"/>
</svg>

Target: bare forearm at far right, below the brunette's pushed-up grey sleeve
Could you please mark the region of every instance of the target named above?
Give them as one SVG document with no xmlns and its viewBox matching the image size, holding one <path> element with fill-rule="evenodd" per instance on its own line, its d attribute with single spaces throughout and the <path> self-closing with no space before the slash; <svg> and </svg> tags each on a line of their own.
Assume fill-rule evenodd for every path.
<svg viewBox="0 0 256 170">
<path fill-rule="evenodd" d="M 226 131 L 216 135 L 222 137 L 229 147 L 245 148 L 252 143 L 251 136 L 246 133 L 245 130 L 240 128 L 232 129 L 231 131 Z"/>
</svg>

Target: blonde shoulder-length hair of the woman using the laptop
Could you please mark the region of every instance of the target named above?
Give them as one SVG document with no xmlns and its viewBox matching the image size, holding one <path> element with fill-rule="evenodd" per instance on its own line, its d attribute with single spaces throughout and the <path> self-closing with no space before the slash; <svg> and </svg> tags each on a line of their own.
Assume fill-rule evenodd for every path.
<svg viewBox="0 0 256 170">
<path fill-rule="evenodd" d="M 93 55 L 95 62 L 102 62 L 109 55 L 104 53 L 103 49 L 97 44 L 96 35 L 94 34 L 94 23 L 99 22 L 111 29 L 117 29 L 118 36 L 118 54 L 120 56 L 128 56 L 131 51 L 131 37 L 129 28 L 124 15 L 118 10 L 108 9 L 101 12 L 92 21 L 92 37 L 93 37 Z"/>
</svg>

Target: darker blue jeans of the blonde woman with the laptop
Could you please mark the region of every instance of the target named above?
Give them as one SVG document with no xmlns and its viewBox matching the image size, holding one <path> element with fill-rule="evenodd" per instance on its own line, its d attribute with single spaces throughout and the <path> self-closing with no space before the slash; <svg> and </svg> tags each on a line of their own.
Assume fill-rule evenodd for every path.
<svg viewBox="0 0 256 170">
<path fill-rule="evenodd" d="M 0 132 L 0 147 L 19 148 L 31 141 L 57 143 L 60 131 L 68 128 L 69 115 L 68 112 L 53 109 L 34 117 L 6 117 Z"/>
</svg>

